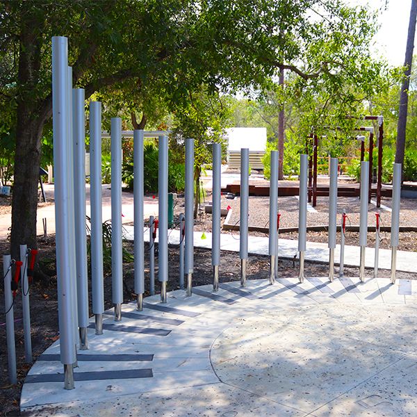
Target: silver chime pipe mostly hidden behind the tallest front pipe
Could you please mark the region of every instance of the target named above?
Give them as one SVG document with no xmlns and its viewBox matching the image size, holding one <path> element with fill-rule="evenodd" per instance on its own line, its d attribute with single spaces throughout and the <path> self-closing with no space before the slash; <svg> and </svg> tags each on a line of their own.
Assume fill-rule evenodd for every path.
<svg viewBox="0 0 417 417">
<path fill-rule="evenodd" d="M 68 206 L 70 207 L 70 240 L 68 241 L 68 245 L 70 245 L 70 268 L 71 268 L 71 276 L 74 277 L 72 279 L 72 314 L 74 316 L 74 340 L 76 341 L 79 338 L 79 327 L 78 327 L 78 302 L 77 302 L 77 295 L 76 295 L 76 250 L 75 250 L 75 206 L 74 206 L 74 117 L 73 117 L 73 105 L 72 105 L 72 67 L 68 67 L 68 118 L 67 118 L 67 126 L 68 126 L 68 158 L 70 161 L 67 167 L 67 179 L 68 179 L 68 187 L 70 193 L 70 202 L 68 202 Z M 76 351 L 76 345 L 75 345 Z M 75 361 L 74 368 L 78 366 L 78 363 Z"/>
</svg>

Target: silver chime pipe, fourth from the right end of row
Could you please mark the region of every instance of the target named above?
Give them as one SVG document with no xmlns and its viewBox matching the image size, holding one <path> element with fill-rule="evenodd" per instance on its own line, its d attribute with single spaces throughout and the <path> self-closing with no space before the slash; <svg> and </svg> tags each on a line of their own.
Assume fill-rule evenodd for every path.
<svg viewBox="0 0 417 417">
<path fill-rule="evenodd" d="M 300 282 L 304 281 L 304 253 L 306 252 L 307 234 L 307 170 L 308 156 L 300 155 L 300 208 L 298 215 L 298 252 L 300 252 Z"/>
</svg>

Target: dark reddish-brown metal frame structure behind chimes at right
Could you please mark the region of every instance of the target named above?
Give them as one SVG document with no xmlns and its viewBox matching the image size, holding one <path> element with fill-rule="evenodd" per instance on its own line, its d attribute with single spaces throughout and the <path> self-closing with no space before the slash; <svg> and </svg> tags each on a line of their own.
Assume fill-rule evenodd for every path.
<svg viewBox="0 0 417 417">
<path fill-rule="evenodd" d="M 384 142 L 384 117 L 382 116 L 365 116 L 363 120 L 376 120 L 378 122 L 378 172 L 377 172 L 377 207 L 381 206 L 381 189 L 382 189 L 382 144 Z M 360 126 L 354 131 L 369 131 L 369 127 Z M 312 143 L 311 143 L 312 142 Z M 313 154 L 309 154 L 309 147 L 312 145 Z M 372 193 L 372 170 L 373 170 L 373 148 L 374 132 L 370 131 L 369 135 L 369 201 Z M 306 140 L 306 153 L 309 154 L 309 203 L 313 207 L 317 205 L 317 154 L 318 154 L 318 136 L 311 134 Z M 361 141 L 361 161 L 365 156 L 365 142 Z"/>
</svg>

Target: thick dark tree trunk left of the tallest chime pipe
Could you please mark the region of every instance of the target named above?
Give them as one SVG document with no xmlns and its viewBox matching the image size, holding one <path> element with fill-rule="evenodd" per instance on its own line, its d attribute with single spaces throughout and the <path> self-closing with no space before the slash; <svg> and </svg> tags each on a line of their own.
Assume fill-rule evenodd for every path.
<svg viewBox="0 0 417 417">
<path fill-rule="evenodd" d="M 13 181 L 11 254 L 19 259 L 19 245 L 35 249 L 40 143 L 47 114 L 36 99 L 41 65 L 43 22 L 36 13 L 22 15 L 17 73 L 15 174 Z M 36 30 L 34 30 L 36 28 Z"/>
</svg>

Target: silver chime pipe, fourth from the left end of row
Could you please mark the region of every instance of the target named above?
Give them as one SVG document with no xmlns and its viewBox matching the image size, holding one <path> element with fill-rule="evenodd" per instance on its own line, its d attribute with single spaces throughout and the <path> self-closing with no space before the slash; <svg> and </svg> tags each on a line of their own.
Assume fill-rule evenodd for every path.
<svg viewBox="0 0 417 417">
<path fill-rule="evenodd" d="M 96 334 L 103 334 L 104 272 L 101 213 L 101 103 L 90 102 L 90 206 L 92 312 Z"/>
</svg>

